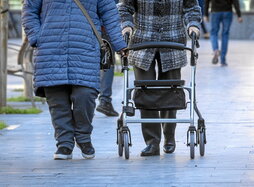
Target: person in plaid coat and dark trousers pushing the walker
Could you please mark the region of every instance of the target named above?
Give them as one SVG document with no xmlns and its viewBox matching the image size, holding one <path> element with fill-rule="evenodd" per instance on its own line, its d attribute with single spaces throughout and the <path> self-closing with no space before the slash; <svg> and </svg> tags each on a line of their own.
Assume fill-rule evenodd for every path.
<svg viewBox="0 0 254 187">
<path fill-rule="evenodd" d="M 122 33 L 131 34 L 131 44 L 149 41 L 169 41 L 186 44 L 188 34 L 199 36 L 201 11 L 197 0 L 158 1 L 120 0 L 118 10 L 122 20 Z M 185 24 L 185 25 L 184 25 Z M 186 26 L 186 27 L 185 27 Z M 134 66 L 136 80 L 181 79 L 181 68 L 187 64 L 186 52 L 172 49 L 144 49 L 130 51 L 129 63 Z M 158 72 L 156 69 L 158 68 Z M 170 97 L 170 96 L 169 96 Z M 175 118 L 176 110 L 141 110 L 141 118 Z M 161 124 L 165 153 L 173 153 L 176 124 Z M 142 123 L 147 147 L 141 156 L 160 154 L 161 125 Z"/>
</svg>

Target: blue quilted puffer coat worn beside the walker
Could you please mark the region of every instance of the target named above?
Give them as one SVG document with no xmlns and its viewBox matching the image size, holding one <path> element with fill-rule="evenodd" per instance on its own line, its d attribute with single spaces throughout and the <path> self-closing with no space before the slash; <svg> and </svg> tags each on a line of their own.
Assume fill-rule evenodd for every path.
<svg viewBox="0 0 254 187">
<path fill-rule="evenodd" d="M 101 24 L 104 25 L 114 50 L 125 48 L 115 2 L 80 1 L 97 30 L 101 32 Z M 30 45 L 36 47 L 36 90 L 65 84 L 99 90 L 99 43 L 73 0 L 25 0 L 22 24 Z"/>
</svg>

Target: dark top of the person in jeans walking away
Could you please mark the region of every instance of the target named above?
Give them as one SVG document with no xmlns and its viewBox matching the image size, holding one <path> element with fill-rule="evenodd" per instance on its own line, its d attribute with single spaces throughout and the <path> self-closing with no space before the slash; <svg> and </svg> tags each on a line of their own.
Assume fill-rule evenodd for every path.
<svg viewBox="0 0 254 187">
<path fill-rule="evenodd" d="M 211 12 L 232 12 L 234 6 L 236 14 L 241 17 L 239 0 L 205 0 L 205 16 L 209 16 L 209 6 Z"/>
</svg>

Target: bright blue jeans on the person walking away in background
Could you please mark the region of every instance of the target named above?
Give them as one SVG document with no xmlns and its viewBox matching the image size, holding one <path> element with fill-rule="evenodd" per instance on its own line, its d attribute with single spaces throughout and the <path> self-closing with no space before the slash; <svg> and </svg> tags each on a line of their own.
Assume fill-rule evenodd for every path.
<svg viewBox="0 0 254 187">
<path fill-rule="evenodd" d="M 232 12 L 213 12 L 211 14 L 211 42 L 213 51 L 219 50 L 218 32 L 222 24 L 221 63 L 226 63 L 230 26 L 233 20 Z"/>
</svg>

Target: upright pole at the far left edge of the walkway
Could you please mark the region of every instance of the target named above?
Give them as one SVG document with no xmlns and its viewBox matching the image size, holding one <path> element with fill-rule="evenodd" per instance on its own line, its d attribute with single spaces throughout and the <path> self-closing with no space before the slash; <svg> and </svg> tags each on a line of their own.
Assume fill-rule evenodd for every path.
<svg viewBox="0 0 254 187">
<path fill-rule="evenodd" d="M 0 0 L 0 107 L 6 106 L 7 95 L 8 8 L 8 0 Z"/>
</svg>

